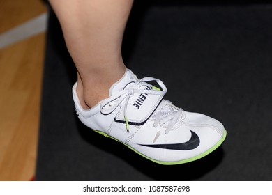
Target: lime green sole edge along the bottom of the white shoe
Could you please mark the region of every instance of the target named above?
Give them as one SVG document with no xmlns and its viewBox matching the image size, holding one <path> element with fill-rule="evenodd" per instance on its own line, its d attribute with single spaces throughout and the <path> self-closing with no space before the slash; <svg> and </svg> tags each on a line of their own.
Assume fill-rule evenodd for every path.
<svg viewBox="0 0 272 195">
<path fill-rule="evenodd" d="M 121 141 L 119 141 L 118 139 L 115 139 L 114 137 L 111 137 L 107 134 L 105 134 L 105 132 L 100 132 L 100 131 L 97 131 L 97 130 L 93 130 L 94 132 L 98 132 L 99 134 L 102 134 L 103 136 L 105 137 L 109 137 L 111 139 L 114 139 L 115 141 L 118 141 L 120 143 L 123 143 Z M 163 164 L 163 165 L 174 165 L 174 164 L 184 164 L 184 163 L 187 163 L 187 162 L 192 162 L 192 161 L 195 161 L 197 159 L 201 159 L 202 157 L 205 157 L 206 155 L 209 155 L 209 153 L 213 152 L 214 150 L 216 150 L 216 148 L 218 148 L 226 139 L 227 137 L 227 131 L 224 130 L 224 134 L 222 136 L 222 138 L 218 141 L 218 143 L 216 143 L 216 145 L 214 145 L 212 148 L 210 148 L 209 150 L 206 150 L 206 152 L 202 153 L 202 154 L 199 154 L 195 157 L 191 157 L 191 158 L 188 158 L 188 159 L 183 159 L 183 160 L 180 160 L 180 161 L 173 161 L 173 162 L 164 162 L 164 161 L 158 161 L 156 159 L 151 159 L 150 157 L 146 157 L 146 155 L 143 155 L 142 153 L 139 153 L 137 150 L 135 150 L 134 148 L 128 146 L 126 143 L 123 143 L 125 146 L 127 146 L 128 148 L 130 148 L 131 150 L 135 151 L 135 153 L 141 155 L 142 157 L 145 157 L 146 159 L 149 159 L 153 162 L 156 162 L 158 164 Z"/>
</svg>

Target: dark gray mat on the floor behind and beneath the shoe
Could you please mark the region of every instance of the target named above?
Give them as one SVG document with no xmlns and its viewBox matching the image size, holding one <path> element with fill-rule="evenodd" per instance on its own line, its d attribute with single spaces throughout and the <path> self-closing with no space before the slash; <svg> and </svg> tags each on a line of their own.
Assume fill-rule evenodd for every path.
<svg viewBox="0 0 272 195">
<path fill-rule="evenodd" d="M 227 129 L 214 153 L 178 166 L 149 162 L 77 120 L 75 67 L 52 10 L 48 22 L 36 180 L 272 180 L 271 5 L 135 3 L 128 68 Z"/>
</svg>

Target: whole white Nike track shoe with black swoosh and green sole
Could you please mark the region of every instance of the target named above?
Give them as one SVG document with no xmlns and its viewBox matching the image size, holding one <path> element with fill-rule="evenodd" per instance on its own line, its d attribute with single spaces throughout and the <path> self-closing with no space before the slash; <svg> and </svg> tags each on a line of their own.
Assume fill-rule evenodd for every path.
<svg viewBox="0 0 272 195">
<path fill-rule="evenodd" d="M 149 84 L 156 81 L 158 87 Z M 152 77 L 125 75 L 109 90 L 109 98 L 85 110 L 73 86 L 77 116 L 92 130 L 121 141 L 139 155 L 159 164 L 182 164 L 216 150 L 227 135 L 209 116 L 191 113 L 163 99 L 167 88 Z"/>
</svg>

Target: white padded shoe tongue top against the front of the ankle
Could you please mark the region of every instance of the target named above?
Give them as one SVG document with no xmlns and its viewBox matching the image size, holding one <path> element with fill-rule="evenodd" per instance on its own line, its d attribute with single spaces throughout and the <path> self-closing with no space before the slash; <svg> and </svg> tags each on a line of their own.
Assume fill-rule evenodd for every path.
<svg viewBox="0 0 272 195">
<path fill-rule="evenodd" d="M 124 88 L 129 86 L 130 83 L 133 83 L 136 80 L 137 80 L 136 75 L 134 75 L 131 70 L 126 69 L 126 72 L 123 75 L 123 77 L 115 84 L 113 84 L 112 87 L 109 89 L 109 96 L 115 95 L 116 93 L 123 90 Z"/>
</svg>

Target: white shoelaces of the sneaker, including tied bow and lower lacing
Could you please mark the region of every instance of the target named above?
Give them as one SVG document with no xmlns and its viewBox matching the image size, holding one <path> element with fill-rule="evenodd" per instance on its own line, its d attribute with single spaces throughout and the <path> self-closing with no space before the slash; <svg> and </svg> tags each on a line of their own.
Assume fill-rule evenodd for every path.
<svg viewBox="0 0 272 195">
<path fill-rule="evenodd" d="M 160 88 L 157 88 L 155 86 L 152 86 L 151 84 L 146 83 L 149 81 L 156 81 L 158 85 L 160 86 L 161 90 Z M 155 90 L 139 89 L 141 88 L 141 86 L 148 86 L 149 88 L 153 88 Z M 163 81 L 160 81 L 159 79 L 155 79 L 153 77 L 144 77 L 143 79 L 138 79 L 137 81 L 135 81 L 135 83 L 129 86 L 128 88 L 125 88 L 119 93 L 116 93 L 115 95 L 112 95 L 111 97 L 103 100 L 103 102 L 101 102 L 101 105 L 100 105 L 100 112 L 105 115 L 111 114 L 116 109 L 116 107 L 118 107 L 119 104 L 121 104 L 121 102 L 123 102 L 123 100 L 126 99 L 126 102 L 124 104 L 124 119 L 126 122 L 126 130 L 129 131 L 126 110 L 128 107 L 128 101 L 130 100 L 130 96 L 132 96 L 134 93 L 165 95 L 166 92 L 167 92 L 167 88 L 163 84 Z M 105 106 L 109 104 L 110 102 L 114 102 L 114 104 L 110 105 L 110 107 L 107 107 L 107 109 L 105 109 Z M 181 111 L 182 111 L 182 109 L 178 109 L 177 111 L 174 111 L 174 109 L 172 109 L 171 113 L 167 114 L 167 116 L 162 118 L 161 109 L 167 106 L 167 104 L 171 104 L 171 102 L 169 102 L 168 100 L 164 100 L 163 102 L 161 102 L 158 108 L 156 109 L 155 114 L 153 114 L 153 116 L 154 115 L 156 116 L 155 122 L 153 124 L 154 127 L 158 127 L 159 124 L 163 125 L 169 122 L 165 130 L 165 134 L 168 134 L 169 131 L 172 129 L 172 127 L 176 123 L 176 120 L 179 118 L 179 116 L 181 116 Z"/>
</svg>

